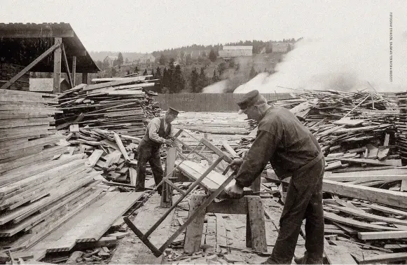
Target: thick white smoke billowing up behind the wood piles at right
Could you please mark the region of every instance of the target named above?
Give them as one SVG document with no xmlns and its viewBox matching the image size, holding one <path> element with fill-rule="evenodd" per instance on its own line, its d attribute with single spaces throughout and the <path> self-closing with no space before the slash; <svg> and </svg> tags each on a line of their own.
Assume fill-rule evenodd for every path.
<svg viewBox="0 0 407 265">
<path fill-rule="evenodd" d="M 389 25 L 386 18 L 383 23 Z M 368 82 L 380 92 L 407 90 L 407 24 L 394 24 L 399 27 L 392 32 L 392 81 L 389 27 L 355 27 L 323 39 L 298 41 L 294 50 L 277 64 L 275 74 L 259 74 L 234 93 L 253 89 L 261 93 L 287 93 L 292 89 L 372 90 Z"/>
</svg>

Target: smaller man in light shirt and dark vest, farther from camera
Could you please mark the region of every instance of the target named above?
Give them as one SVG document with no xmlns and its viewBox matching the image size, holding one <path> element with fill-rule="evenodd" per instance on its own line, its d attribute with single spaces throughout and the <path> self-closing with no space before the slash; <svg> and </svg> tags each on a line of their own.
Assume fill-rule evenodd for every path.
<svg viewBox="0 0 407 265">
<path fill-rule="evenodd" d="M 171 123 L 177 118 L 178 113 L 177 109 L 168 108 L 164 117 L 155 117 L 149 122 L 146 133 L 137 148 L 136 191 L 144 191 L 147 162 L 150 163 L 156 185 L 163 180 L 160 147 L 162 144 L 174 144 L 174 141 L 170 139 L 174 136 L 174 128 L 172 128 Z M 161 195 L 161 191 L 163 191 L 162 185 L 157 188 L 158 194 Z"/>
</svg>

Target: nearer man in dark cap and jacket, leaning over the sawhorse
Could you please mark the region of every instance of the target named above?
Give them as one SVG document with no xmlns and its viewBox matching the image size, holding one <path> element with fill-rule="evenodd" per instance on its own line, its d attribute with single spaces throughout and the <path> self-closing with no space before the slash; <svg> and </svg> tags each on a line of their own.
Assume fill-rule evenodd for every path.
<svg viewBox="0 0 407 265">
<path fill-rule="evenodd" d="M 291 264 L 303 219 L 306 252 L 294 260 L 298 264 L 322 264 L 325 161 L 317 140 L 289 109 L 269 106 L 258 90 L 250 91 L 237 104 L 240 114 L 258 121 L 258 131 L 247 155 L 231 163 L 238 172 L 236 184 L 226 193 L 232 198 L 242 197 L 243 187 L 250 186 L 268 162 L 280 179 L 291 176 L 280 231 L 273 253 L 264 264 Z"/>
</svg>

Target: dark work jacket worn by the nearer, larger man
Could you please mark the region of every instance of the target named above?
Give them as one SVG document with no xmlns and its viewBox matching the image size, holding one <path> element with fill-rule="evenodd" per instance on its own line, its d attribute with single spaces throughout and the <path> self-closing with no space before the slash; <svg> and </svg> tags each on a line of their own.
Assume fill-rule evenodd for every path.
<svg viewBox="0 0 407 265">
<path fill-rule="evenodd" d="M 250 186 L 269 161 L 277 177 L 283 179 L 322 157 L 317 139 L 289 109 L 270 107 L 258 123 L 256 139 L 235 179 Z"/>
</svg>

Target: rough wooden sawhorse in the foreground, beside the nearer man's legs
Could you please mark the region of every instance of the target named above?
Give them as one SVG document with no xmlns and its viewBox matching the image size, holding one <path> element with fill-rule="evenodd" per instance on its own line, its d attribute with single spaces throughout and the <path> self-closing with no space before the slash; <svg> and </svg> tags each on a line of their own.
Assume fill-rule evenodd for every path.
<svg viewBox="0 0 407 265">
<path fill-rule="evenodd" d="M 201 194 L 195 194 L 191 197 L 188 217 L 193 215 L 206 198 L 207 196 Z M 239 200 L 230 199 L 209 204 L 206 212 L 200 212 L 186 228 L 184 252 L 193 253 L 200 251 L 202 230 L 207 212 L 247 215 L 249 222 L 247 222 L 246 226 L 246 247 L 251 247 L 258 252 L 267 252 L 264 210 L 260 196 L 244 196 Z"/>
</svg>

